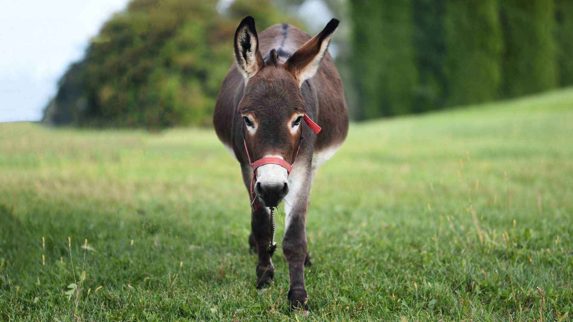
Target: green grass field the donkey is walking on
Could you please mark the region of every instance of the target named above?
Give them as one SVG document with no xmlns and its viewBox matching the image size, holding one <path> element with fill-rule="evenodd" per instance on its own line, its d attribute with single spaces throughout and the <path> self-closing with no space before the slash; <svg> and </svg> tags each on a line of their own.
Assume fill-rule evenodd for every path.
<svg viewBox="0 0 573 322">
<path fill-rule="evenodd" d="M 571 319 L 572 215 L 572 89 L 352 124 L 312 189 L 309 320 L 539 320 L 536 287 Z M 83 320 L 300 320 L 249 231 L 211 130 L 0 124 L 0 320 L 70 320 L 84 238 Z"/>
</svg>

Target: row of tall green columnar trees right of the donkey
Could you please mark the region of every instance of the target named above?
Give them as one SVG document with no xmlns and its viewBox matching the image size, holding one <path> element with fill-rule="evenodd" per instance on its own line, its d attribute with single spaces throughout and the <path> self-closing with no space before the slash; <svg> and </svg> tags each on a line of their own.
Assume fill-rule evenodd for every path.
<svg viewBox="0 0 573 322">
<path fill-rule="evenodd" d="M 573 1 L 351 1 L 360 119 L 573 84 Z"/>
</svg>

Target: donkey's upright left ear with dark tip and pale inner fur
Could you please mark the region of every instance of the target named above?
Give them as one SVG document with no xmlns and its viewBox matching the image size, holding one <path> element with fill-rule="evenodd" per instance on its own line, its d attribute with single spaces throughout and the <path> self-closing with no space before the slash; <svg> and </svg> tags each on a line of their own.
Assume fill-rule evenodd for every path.
<svg viewBox="0 0 573 322">
<path fill-rule="evenodd" d="M 245 79 L 253 77 L 265 63 L 258 51 L 257 30 L 254 28 L 254 19 L 250 15 L 243 18 L 237 27 L 233 45 L 239 70 Z"/>
</svg>

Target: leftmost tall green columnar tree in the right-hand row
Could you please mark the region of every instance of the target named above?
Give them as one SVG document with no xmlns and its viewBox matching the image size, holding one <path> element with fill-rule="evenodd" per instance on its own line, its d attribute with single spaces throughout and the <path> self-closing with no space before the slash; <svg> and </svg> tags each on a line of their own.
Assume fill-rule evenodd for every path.
<svg viewBox="0 0 573 322">
<path fill-rule="evenodd" d="M 408 113 L 417 82 L 411 1 L 352 2 L 360 118 Z"/>
</svg>

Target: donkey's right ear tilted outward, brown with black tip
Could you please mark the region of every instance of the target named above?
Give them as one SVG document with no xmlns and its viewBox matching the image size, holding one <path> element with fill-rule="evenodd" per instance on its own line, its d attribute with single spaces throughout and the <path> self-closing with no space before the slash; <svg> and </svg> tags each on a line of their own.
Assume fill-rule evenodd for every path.
<svg viewBox="0 0 573 322">
<path fill-rule="evenodd" d="M 323 31 L 307 41 L 286 61 L 286 69 L 299 81 L 299 86 L 316 74 L 339 22 L 338 19 L 332 18 Z"/>
</svg>

